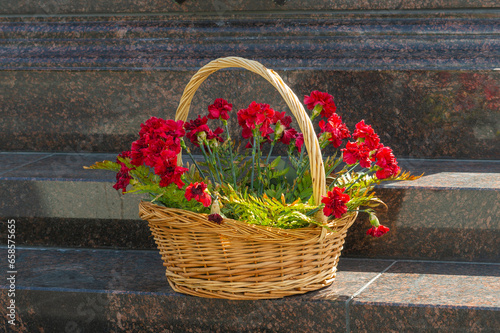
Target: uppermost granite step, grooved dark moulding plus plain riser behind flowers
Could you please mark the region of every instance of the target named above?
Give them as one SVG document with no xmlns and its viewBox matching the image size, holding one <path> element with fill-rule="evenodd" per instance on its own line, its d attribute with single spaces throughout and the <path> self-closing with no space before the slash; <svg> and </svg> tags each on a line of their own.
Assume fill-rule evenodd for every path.
<svg viewBox="0 0 500 333">
<path fill-rule="evenodd" d="M 216 12 L 207 8 L 219 2 L 171 2 L 165 6 L 183 9 L 158 15 L 92 5 L 82 13 L 71 2 L 55 7 L 108 15 L 0 16 L 1 150 L 125 150 L 146 119 L 174 117 L 196 70 L 232 55 L 275 70 L 300 100 L 313 90 L 332 94 L 349 128 L 364 119 L 398 156 L 500 156 L 498 6 L 436 0 L 405 11 L 321 0 L 269 12 L 271 1 L 234 2 Z M 0 12 L 31 13 L 33 5 Z M 307 11 L 325 6 L 351 11 Z M 288 109 L 263 78 L 223 70 L 200 86 L 190 115 L 206 114 L 219 97 L 235 110 L 254 100 Z M 230 128 L 241 136 L 235 116 Z"/>
</svg>

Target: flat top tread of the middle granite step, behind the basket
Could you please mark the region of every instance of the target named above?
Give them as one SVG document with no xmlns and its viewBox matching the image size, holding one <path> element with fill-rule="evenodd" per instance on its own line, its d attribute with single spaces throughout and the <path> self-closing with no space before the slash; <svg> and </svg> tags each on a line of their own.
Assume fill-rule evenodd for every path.
<svg viewBox="0 0 500 333">
<path fill-rule="evenodd" d="M 84 170 L 97 161 L 115 160 L 110 153 L 24 153 L 0 152 L 0 179 L 54 179 L 114 181 L 114 174 L 102 170 Z M 202 159 L 201 156 L 195 156 Z M 185 157 L 186 160 L 189 158 Z M 415 175 L 424 176 L 414 182 L 393 183 L 383 187 L 467 187 L 469 180 L 479 182 L 475 188 L 500 188 L 500 160 L 398 159 L 400 166 Z M 442 178 L 436 178 L 443 175 Z M 461 180 L 460 177 L 464 177 Z M 446 179 L 448 179 L 446 181 Z M 437 180 L 440 179 L 440 182 Z M 492 181 L 493 180 L 493 181 Z M 444 182 L 444 183 L 443 183 Z M 403 185 L 404 184 L 404 185 Z M 455 185 L 454 185 L 455 184 Z"/>
</svg>

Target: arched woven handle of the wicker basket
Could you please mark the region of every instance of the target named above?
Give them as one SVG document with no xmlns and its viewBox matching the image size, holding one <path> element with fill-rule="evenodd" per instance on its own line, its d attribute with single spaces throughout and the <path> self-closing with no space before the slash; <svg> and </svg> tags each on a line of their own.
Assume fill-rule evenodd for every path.
<svg viewBox="0 0 500 333">
<path fill-rule="evenodd" d="M 198 90 L 198 87 L 203 83 L 203 81 L 205 81 L 206 78 L 208 78 L 210 74 L 218 71 L 219 69 L 228 67 L 244 68 L 259 74 L 271 83 L 285 100 L 297 120 L 300 130 L 304 134 L 304 144 L 308 152 L 311 167 L 314 201 L 317 205 L 319 205 L 321 203 L 321 197 L 326 195 L 326 179 L 323 157 L 321 156 L 321 148 L 319 146 L 318 138 L 314 132 L 311 119 L 304 110 L 302 103 L 293 91 L 283 82 L 281 77 L 273 70 L 267 69 L 257 61 L 240 57 L 219 58 L 209 62 L 198 70 L 184 89 L 179 107 L 176 111 L 175 120 L 186 121 L 189 113 L 189 107 L 191 106 L 191 100 L 193 99 L 196 90 Z M 320 215 L 322 215 L 321 211 L 320 213 Z M 319 220 L 325 219 L 324 215 L 317 216 L 316 218 L 319 218 Z"/>
</svg>

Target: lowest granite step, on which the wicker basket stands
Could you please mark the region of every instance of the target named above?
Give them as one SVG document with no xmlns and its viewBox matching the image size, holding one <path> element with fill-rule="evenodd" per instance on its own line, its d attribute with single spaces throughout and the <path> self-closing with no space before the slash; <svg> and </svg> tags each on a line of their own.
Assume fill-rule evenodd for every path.
<svg viewBox="0 0 500 333">
<path fill-rule="evenodd" d="M 6 253 L 6 248 L 0 251 Z M 9 271 L 2 260 L 2 271 Z M 156 251 L 18 248 L 3 332 L 495 332 L 498 263 L 341 258 L 334 283 L 277 300 L 174 292 Z M 12 270 L 12 269 L 10 269 Z"/>
</svg>

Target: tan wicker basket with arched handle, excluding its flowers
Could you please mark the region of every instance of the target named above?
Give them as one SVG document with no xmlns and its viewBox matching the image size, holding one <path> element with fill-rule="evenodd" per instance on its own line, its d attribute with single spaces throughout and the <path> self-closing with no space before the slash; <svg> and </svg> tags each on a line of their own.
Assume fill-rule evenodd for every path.
<svg viewBox="0 0 500 333">
<path fill-rule="evenodd" d="M 325 171 L 319 143 L 309 116 L 297 96 L 274 71 L 258 62 L 229 57 L 202 67 L 190 80 L 177 109 L 176 120 L 186 120 L 191 100 L 213 72 L 241 67 L 269 81 L 286 101 L 304 134 L 316 203 L 326 194 Z M 225 219 L 222 225 L 204 214 L 139 205 L 166 266 L 175 291 L 211 298 L 267 299 L 303 294 L 331 284 L 347 229 L 357 213 L 321 227 L 278 229 Z M 316 217 L 326 221 L 322 212 Z"/>
</svg>

